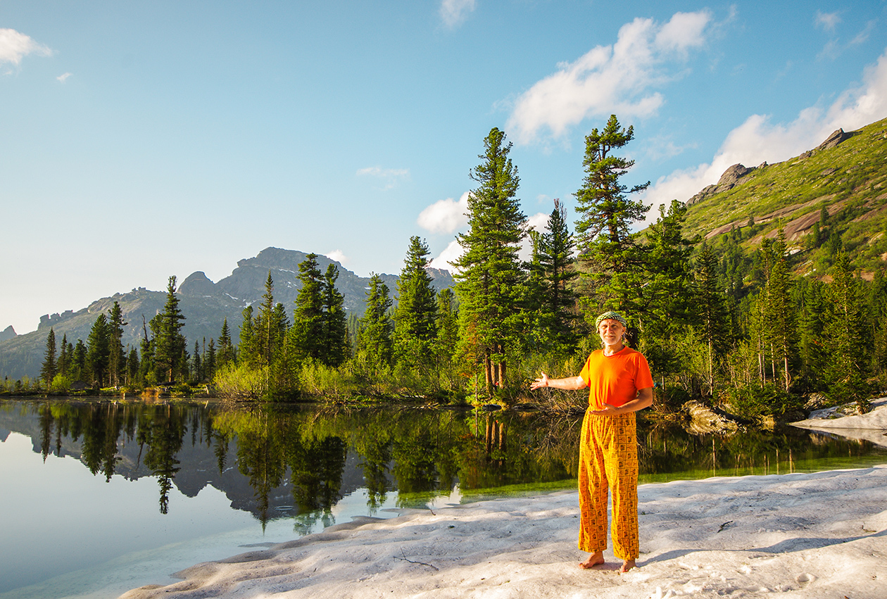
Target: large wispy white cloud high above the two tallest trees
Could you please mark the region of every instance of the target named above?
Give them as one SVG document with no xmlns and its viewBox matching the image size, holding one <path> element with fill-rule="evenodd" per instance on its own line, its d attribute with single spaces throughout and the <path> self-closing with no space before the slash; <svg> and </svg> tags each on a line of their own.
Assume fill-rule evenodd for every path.
<svg viewBox="0 0 887 599">
<path fill-rule="evenodd" d="M 619 114 L 622 118 L 655 114 L 663 104 L 651 92 L 673 78 L 665 64 L 683 61 L 691 49 L 705 43 L 711 13 L 676 12 L 663 25 L 635 19 L 619 29 L 616 43 L 597 46 L 571 63 L 561 63 L 514 103 L 508 130 L 526 144 L 547 129 L 554 137 L 590 115 Z"/>
</svg>

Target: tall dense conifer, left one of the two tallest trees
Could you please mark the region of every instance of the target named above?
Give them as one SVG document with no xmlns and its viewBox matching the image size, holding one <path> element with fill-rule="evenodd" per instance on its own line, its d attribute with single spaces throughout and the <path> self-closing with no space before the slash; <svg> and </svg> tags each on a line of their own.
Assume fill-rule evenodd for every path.
<svg viewBox="0 0 887 599">
<path fill-rule="evenodd" d="M 458 270 L 460 328 L 466 352 L 483 363 L 487 393 L 506 384 L 506 355 L 518 346 L 523 272 L 517 257 L 526 222 L 517 193 L 520 178 L 508 158 L 511 144 L 493 128 L 483 140 L 483 162 L 471 172 L 479 185 L 468 195 L 468 233 L 459 234 L 465 250 L 452 263 Z"/>
</svg>

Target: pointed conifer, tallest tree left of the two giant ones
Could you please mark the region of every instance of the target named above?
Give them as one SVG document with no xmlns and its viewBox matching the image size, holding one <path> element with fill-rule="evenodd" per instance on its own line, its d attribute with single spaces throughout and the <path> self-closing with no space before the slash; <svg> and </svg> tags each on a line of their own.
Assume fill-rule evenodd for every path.
<svg viewBox="0 0 887 599">
<path fill-rule="evenodd" d="M 410 366 L 428 363 L 430 342 L 436 335 L 436 294 L 428 274 L 428 245 L 416 235 L 397 281 L 394 311 L 394 345 L 398 360 Z"/>
</svg>

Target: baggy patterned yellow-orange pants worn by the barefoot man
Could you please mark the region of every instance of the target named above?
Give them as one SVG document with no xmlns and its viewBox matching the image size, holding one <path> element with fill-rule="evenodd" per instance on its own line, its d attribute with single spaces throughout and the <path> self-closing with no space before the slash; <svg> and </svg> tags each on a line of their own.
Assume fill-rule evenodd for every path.
<svg viewBox="0 0 887 599">
<path fill-rule="evenodd" d="M 613 553 L 638 558 L 638 432 L 635 415 L 585 413 L 579 447 L 579 548 L 607 548 L 607 492 L 613 491 Z"/>
</svg>

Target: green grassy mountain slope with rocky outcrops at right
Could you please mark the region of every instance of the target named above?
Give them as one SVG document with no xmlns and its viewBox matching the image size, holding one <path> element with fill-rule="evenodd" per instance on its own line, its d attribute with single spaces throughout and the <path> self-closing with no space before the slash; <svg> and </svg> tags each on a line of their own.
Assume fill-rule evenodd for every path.
<svg viewBox="0 0 887 599">
<path fill-rule="evenodd" d="M 887 119 L 860 130 L 836 130 L 820 146 L 785 162 L 734 164 L 686 205 L 687 236 L 712 243 L 738 230 L 751 250 L 763 237 L 775 238 L 781 227 L 789 251 L 801 254 L 798 274 L 828 266 L 827 248 L 812 239 L 825 207 L 828 236 L 840 239 L 854 267 L 870 276 L 887 265 Z"/>
</svg>

